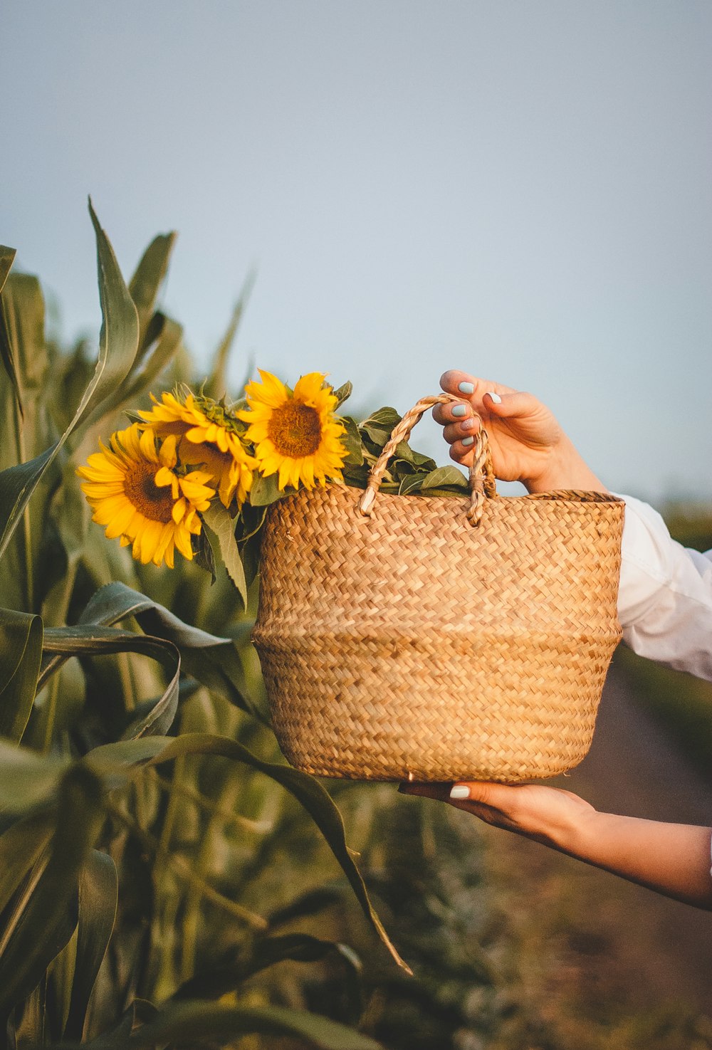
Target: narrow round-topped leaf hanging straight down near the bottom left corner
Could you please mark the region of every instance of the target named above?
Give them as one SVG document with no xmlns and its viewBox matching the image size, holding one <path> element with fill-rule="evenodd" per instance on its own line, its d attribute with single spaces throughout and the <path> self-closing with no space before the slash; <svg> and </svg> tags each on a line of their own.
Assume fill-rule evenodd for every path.
<svg viewBox="0 0 712 1050">
<path fill-rule="evenodd" d="M 99 967 L 113 929 L 119 877 L 110 857 L 92 849 L 79 879 L 77 960 L 64 1037 L 81 1040 Z"/>
</svg>

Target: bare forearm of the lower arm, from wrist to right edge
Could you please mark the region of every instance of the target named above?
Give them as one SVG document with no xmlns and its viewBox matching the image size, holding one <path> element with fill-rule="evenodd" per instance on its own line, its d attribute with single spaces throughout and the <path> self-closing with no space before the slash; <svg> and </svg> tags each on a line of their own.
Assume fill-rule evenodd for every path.
<svg viewBox="0 0 712 1050">
<path fill-rule="evenodd" d="M 712 828 L 666 824 L 590 811 L 549 830 L 562 853 L 654 889 L 666 897 L 712 910 Z"/>
</svg>

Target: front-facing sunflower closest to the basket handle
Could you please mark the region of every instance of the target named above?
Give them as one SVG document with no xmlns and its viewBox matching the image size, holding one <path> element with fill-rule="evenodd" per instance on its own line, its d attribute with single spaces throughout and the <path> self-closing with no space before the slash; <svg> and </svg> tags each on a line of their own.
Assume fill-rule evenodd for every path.
<svg viewBox="0 0 712 1050">
<path fill-rule="evenodd" d="M 245 394 L 249 408 L 236 413 L 249 423 L 245 438 L 255 446 L 259 472 L 279 471 L 278 484 L 313 488 L 327 478 L 342 481 L 348 456 L 339 441 L 345 434 L 335 418 L 337 399 L 320 372 L 302 376 L 292 393 L 276 376 L 259 370 L 261 383 L 249 382 Z"/>
</svg>

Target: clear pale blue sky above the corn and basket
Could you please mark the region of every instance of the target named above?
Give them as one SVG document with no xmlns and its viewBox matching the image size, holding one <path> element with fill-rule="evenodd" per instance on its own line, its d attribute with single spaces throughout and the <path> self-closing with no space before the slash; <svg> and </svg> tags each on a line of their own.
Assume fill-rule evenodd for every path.
<svg viewBox="0 0 712 1050">
<path fill-rule="evenodd" d="M 4 0 L 0 240 L 96 331 L 91 194 L 207 360 L 526 387 L 619 489 L 712 495 L 709 0 Z M 444 446 L 432 422 L 415 443 Z"/>
</svg>

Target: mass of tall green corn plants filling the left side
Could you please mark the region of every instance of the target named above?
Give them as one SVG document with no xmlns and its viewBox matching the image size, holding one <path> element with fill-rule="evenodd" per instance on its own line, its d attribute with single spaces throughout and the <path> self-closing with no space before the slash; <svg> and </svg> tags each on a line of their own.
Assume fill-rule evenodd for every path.
<svg viewBox="0 0 712 1050">
<path fill-rule="evenodd" d="M 0 1045 L 370 1050 L 358 959 L 305 917 L 348 889 L 405 964 L 332 798 L 278 752 L 249 609 L 219 566 L 137 565 L 90 526 L 77 465 L 190 369 L 155 308 L 173 236 L 125 284 L 90 214 L 96 358 L 45 338 L 38 280 L 0 250 Z M 347 989 L 338 1017 L 303 1008 L 305 963 Z"/>
</svg>

